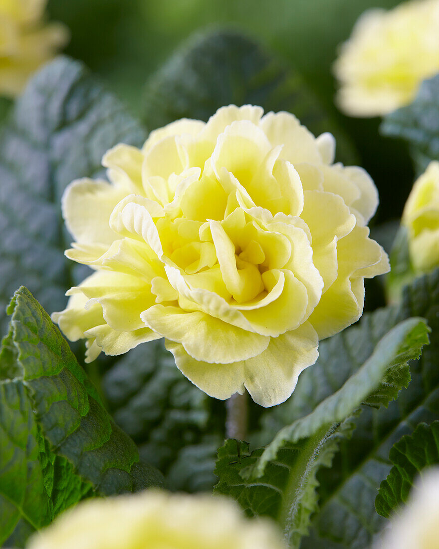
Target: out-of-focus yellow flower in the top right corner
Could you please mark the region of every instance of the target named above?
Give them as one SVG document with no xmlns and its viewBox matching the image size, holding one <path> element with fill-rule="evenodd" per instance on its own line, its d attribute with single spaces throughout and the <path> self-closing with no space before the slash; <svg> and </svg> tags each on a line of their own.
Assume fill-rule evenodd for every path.
<svg viewBox="0 0 439 549">
<path fill-rule="evenodd" d="M 439 72 L 439 0 L 365 12 L 342 45 L 334 72 L 337 103 L 352 116 L 377 116 L 410 103 Z"/>
</svg>

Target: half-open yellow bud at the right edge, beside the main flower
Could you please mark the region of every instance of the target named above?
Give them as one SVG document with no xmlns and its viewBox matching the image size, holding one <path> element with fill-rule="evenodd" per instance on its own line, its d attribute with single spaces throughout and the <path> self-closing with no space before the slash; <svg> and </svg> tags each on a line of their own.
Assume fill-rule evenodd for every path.
<svg viewBox="0 0 439 549">
<path fill-rule="evenodd" d="M 439 266 L 439 162 L 431 162 L 413 185 L 402 224 L 408 228 L 415 270 L 426 272 Z"/>
</svg>

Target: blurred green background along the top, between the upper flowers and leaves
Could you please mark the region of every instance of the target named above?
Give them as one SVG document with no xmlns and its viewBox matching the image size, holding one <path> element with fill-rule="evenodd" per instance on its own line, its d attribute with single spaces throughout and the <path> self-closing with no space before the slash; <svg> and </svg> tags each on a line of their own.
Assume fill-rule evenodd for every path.
<svg viewBox="0 0 439 549">
<path fill-rule="evenodd" d="M 375 223 L 399 217 L 413 181 L 402 143 L 379 136 L 379 120 L 342 116 L 334 107 L 331 65 L 358 16 L 397 0 L 49 0 L 51 18 L 71 31 L 65 52 L 82 59 L 140 110 L 145 81 L 194 31 L 232 26 L 295 68 L 358 149 L 381 197 Z"/>
</svg>

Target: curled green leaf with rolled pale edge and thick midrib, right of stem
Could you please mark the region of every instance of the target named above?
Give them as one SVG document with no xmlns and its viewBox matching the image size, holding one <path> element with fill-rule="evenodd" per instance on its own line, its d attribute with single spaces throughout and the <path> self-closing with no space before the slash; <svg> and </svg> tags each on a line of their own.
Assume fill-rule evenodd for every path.
<svg viewBox="0 0 439 549">
<path fill-rule="evenodd" d="M 226 441 L 218 452 L 216 490 L 235 497 L 249 514 L 277 519 L 298 547 L 316 508 L 318 468 L 331 463 L 338 439 L 351 434 L 358 408 L 387 406 L 407 387 L 407 360 L 419 357 L 427 331 L 421 318 L 398 324 L 338 391 L 281 429 L 266 448 L 249 454 L 246 443 Z"/>
</svg>

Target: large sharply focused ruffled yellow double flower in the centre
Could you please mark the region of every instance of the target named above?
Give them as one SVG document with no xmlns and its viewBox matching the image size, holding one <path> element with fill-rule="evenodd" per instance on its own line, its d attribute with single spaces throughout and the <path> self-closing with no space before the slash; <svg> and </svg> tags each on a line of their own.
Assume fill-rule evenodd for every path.
<svg viewBox="0 0 439 549">
<path fill-rule="evenodd" d="M 223 107 L 179 120 L 142 150 L 105 154 L 106 181 L 63 197 L 70 259 L 95 272 L 53 320 L 87 360 L 165 338 L 183 374 L 211 396 L 247 388 L 262 406 L 287 399 L 318 340 L 362 314 L 364 277 L 389 269 L 368 238 L 376 188 L 333 164 L 288 113 Z"/>
</svg>

